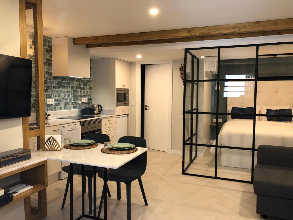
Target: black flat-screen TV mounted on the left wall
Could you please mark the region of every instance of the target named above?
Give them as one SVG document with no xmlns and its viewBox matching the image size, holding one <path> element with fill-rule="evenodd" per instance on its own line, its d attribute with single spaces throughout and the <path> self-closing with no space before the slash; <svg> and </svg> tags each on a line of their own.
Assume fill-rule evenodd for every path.
<svg viewBox="0 0 293 220">
<path fill-rule="evenodd" d="M 0 119 L 30 116 L 32 60 L 0 54 Z"/>
</svg>

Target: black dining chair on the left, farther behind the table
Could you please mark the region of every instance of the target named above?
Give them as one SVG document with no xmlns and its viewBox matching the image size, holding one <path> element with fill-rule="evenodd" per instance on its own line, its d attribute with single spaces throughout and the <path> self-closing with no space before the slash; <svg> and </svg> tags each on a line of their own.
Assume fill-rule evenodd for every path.
<svg viewBox="0 0 293 220">
<path fill-rule="evenodd" d="M 101 133 L 98 133 L 98 134 L 97 133 L 89 133 L 89 134 L 86 134 L 86 136 L 84 136 L 83 139 L 93 140 L 93 141 L 96 141 L 96 143 L 104 143 L 104 142 L 110 141 L 110 138 L 109 138 L 108 135 L 101 134 Z M 103 171 L 103 169 L 104 169 L 103 167 L 96 167 L 96 173 Z M 62 170 L 64 172 L 70 173 L 70 167 L 69 166 L 62 167 Z M 80 164 L 76 164 L 76 163 L 73 164 L 73 174 L 82 175 L 81 165 Z M 96 175 L 96 174 L 93 173 L 93 166 L 84 165 L 84 176 L 82 178 L 84 178 L 84 180 L 85 180 L 85 178 L 88 177 L 88 211 L 89 211 L 89 214 L 92 214 L 93 175 Z M 70 184 L 70 178 L 67 178 L 61 209 L 64 208 L 64 204 L 65 204 L 67 193 L 68 193 L 69 184 Z M 109 190 L 108 187 L 107 187 L 107 189 L 108 189 L 107 190 L 108 196 L 111 197 L 110 190 Z M 84 192 L 86 192 L 86 190 L 84 190 Z"/>
</svg>

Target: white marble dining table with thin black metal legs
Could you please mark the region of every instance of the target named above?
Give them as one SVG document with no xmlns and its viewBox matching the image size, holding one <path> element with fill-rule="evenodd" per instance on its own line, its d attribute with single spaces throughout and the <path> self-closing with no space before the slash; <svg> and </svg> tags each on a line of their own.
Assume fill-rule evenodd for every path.
<svg viewBox="0 0 293 220">
<path fill-rule="evenodd" d="M 96 193 L 96 178 L 97 175 L 93 176 L 93 216 L 86 215 L 84 213 L 84 178 L 82 179 L 82 213 L 76 219 L 81 218 L 88 218 L 88 219 L 99 219 L 99 220 L 106 220 L 107 219 L 107 168 L 117 169 L 122 165 L 126 164 L 130 160 L 136 158 L 137 156 L 141 155 L 142 153 L 146 152 L 148 148 L 140 148 L 136 147 L 137 151 L 130 154 L 106 154 L 101 152 L 101 148 L 103 148 L 103 144 L 99 143 L 96 148 L 85 149 L 85 150 L 69 150 L 63 148 L 60 151 L 45 151 L 45 150 L 38 150 L 32 152 L 32 157 L 38 158 L 47 158 L 47 160 L 56 160 L 62 162 L 70 163 L 70 174 L 68 178 L 70 178 L 70 220 L 73 220 L 73 164 L 81 164 L 82 165 L 82 173 L 84 172 L 84 165 L 93 166 L 93 173 L 96 173 L 96 167 L 103 167 L 104 168 L 104 218 L 97 217 L 97 193 Z"/>
</svg>

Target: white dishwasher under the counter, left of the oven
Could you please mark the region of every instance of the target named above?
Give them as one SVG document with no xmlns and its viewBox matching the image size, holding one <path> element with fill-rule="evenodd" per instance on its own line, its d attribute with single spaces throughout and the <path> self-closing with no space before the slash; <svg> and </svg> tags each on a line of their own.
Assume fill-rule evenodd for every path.
<svg viewBox="0 0 293 220">
<path fill-rule="evenodd" d="M 74 140 L 80 140 L 81 138 L 81 128 L 80 128 L 80 123 L 79 122 L 74 122 L 70 124 L 66 124 L 64 126 L 61 126 L 61 138 L 62 138 L 62 146 L 64 142 L 64 138 L 70 138 L 71 141 Z M 65 167 L 68 166 L 69 163 L 67 162 L 61 162 L 61 166 Z M 59 179 L 63 180 L 67 178 L 68 173 L 64 171 L 60 171 L 59 173 Z"/>
</svg>

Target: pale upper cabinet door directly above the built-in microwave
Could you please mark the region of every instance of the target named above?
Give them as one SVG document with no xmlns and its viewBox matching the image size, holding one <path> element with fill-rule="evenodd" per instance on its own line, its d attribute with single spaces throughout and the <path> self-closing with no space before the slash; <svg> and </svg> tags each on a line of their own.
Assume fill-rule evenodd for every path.
<svg viewBox="0 0 293 220">
<path fill-rule="evenodd" d="M 130 88 L 130 62 L 115 60 L 116 88 Z"/>
</svg>

